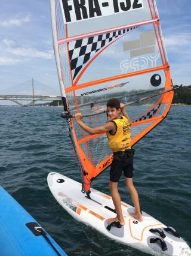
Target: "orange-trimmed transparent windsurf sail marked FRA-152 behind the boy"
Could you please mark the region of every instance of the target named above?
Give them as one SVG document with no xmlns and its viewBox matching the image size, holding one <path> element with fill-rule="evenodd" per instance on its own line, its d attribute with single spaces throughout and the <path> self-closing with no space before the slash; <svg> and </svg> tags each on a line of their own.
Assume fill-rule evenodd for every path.
<svg viewBox="0 0 191 256">
<path fill-rule="evenodd" d="M 54 53 L 70 138 L 83 188 L 112 162 L 106 134 L 84 132 L 107 122 L 106 103 L 119 98 L 133 124 L 132 145 L 170 110 L 171 82 L 155 0 L 51 0 Z"/>
</svg>

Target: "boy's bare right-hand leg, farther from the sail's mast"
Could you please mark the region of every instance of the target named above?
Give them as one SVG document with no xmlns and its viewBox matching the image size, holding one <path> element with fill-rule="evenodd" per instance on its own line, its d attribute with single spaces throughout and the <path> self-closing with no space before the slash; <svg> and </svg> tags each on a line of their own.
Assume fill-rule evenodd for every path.
<svg viewBox="0 0 191 256">
<path fill-rule="evenodd" d="M 125 183 L 127 185 L 128 191 L 130 191 L 131 200 L 133 201 L 135 212 L 131 212 L 130 215 L 133 216 L 138 221 L 143 221 L 140 211 L 140 204 L 138 200 L 138 193 L 133 185 L 133 178 L 125 177 Z"/>
</svg>

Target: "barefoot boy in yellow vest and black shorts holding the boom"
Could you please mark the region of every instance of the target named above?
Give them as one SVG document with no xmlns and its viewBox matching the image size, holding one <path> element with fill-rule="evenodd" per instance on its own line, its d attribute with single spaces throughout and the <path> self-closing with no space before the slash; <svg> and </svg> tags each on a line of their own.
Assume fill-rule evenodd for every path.
<svg viewBox="0 0 191 256">
<path fill-rule="evenodd" d="M 122 112 L 123 116 L 120 116 Z M 130 213 L 138 221 L 142 221 L 138 193 L 133 185 L 133 149 L 131 149 L 131 121 L 125 111 L 124 104 L 119 103 L 116 98 L 107 102 L 107 115 L 110 121 L 106 125 L 97 128 L 88 127 L 82 122 L 81 113 L 75 115 L 76 122 L 89 134 L 100 134 L 106 132 L 109 140 L 109 147 L 113 150 L 113 161 L 110 168 L 109 188 L 112 194 L 113 204 L 116 210 L 116 217 L 107 219 L 107 223 L 111 224 L 116 221 L 120 225 L 125 225 L 124 216 L 121 209 L 121 198 L 118 192 L 118 182 L 121 177 L 122 170 L 125 175 L 125 183 L 130 191 L 135 212 Z"/>
</svg>

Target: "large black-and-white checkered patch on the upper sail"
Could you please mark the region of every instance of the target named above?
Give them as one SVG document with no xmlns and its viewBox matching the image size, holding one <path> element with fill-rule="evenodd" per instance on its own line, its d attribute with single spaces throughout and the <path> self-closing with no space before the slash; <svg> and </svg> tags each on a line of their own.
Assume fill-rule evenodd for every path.
<svg viewBox="0 0 191 256">
<path fill-rule="evenodd" d="M 98 50 L 133 29 L 135 29 L 135 27 L 70 42 L 69 56 L 73 80 L 76 78 L 84 64 L 86 64 Z"/>
</svg>

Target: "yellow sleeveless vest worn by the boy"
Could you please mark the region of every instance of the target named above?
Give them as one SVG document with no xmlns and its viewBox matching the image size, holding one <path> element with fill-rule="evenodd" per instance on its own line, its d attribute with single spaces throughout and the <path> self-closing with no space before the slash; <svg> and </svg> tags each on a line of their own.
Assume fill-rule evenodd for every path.
<svg viewBox="0 0 191 256">
<path fill-rule="evenodd" d="M 110 122 L 115 122 L 117 127 L 115 134 L 112 135 L 107 132 L 110 149 L 113 152 L 131 149 L 131 129 L 128 119 L 121 116 L 121 118 L 113 119 Z"/>
</svg>

